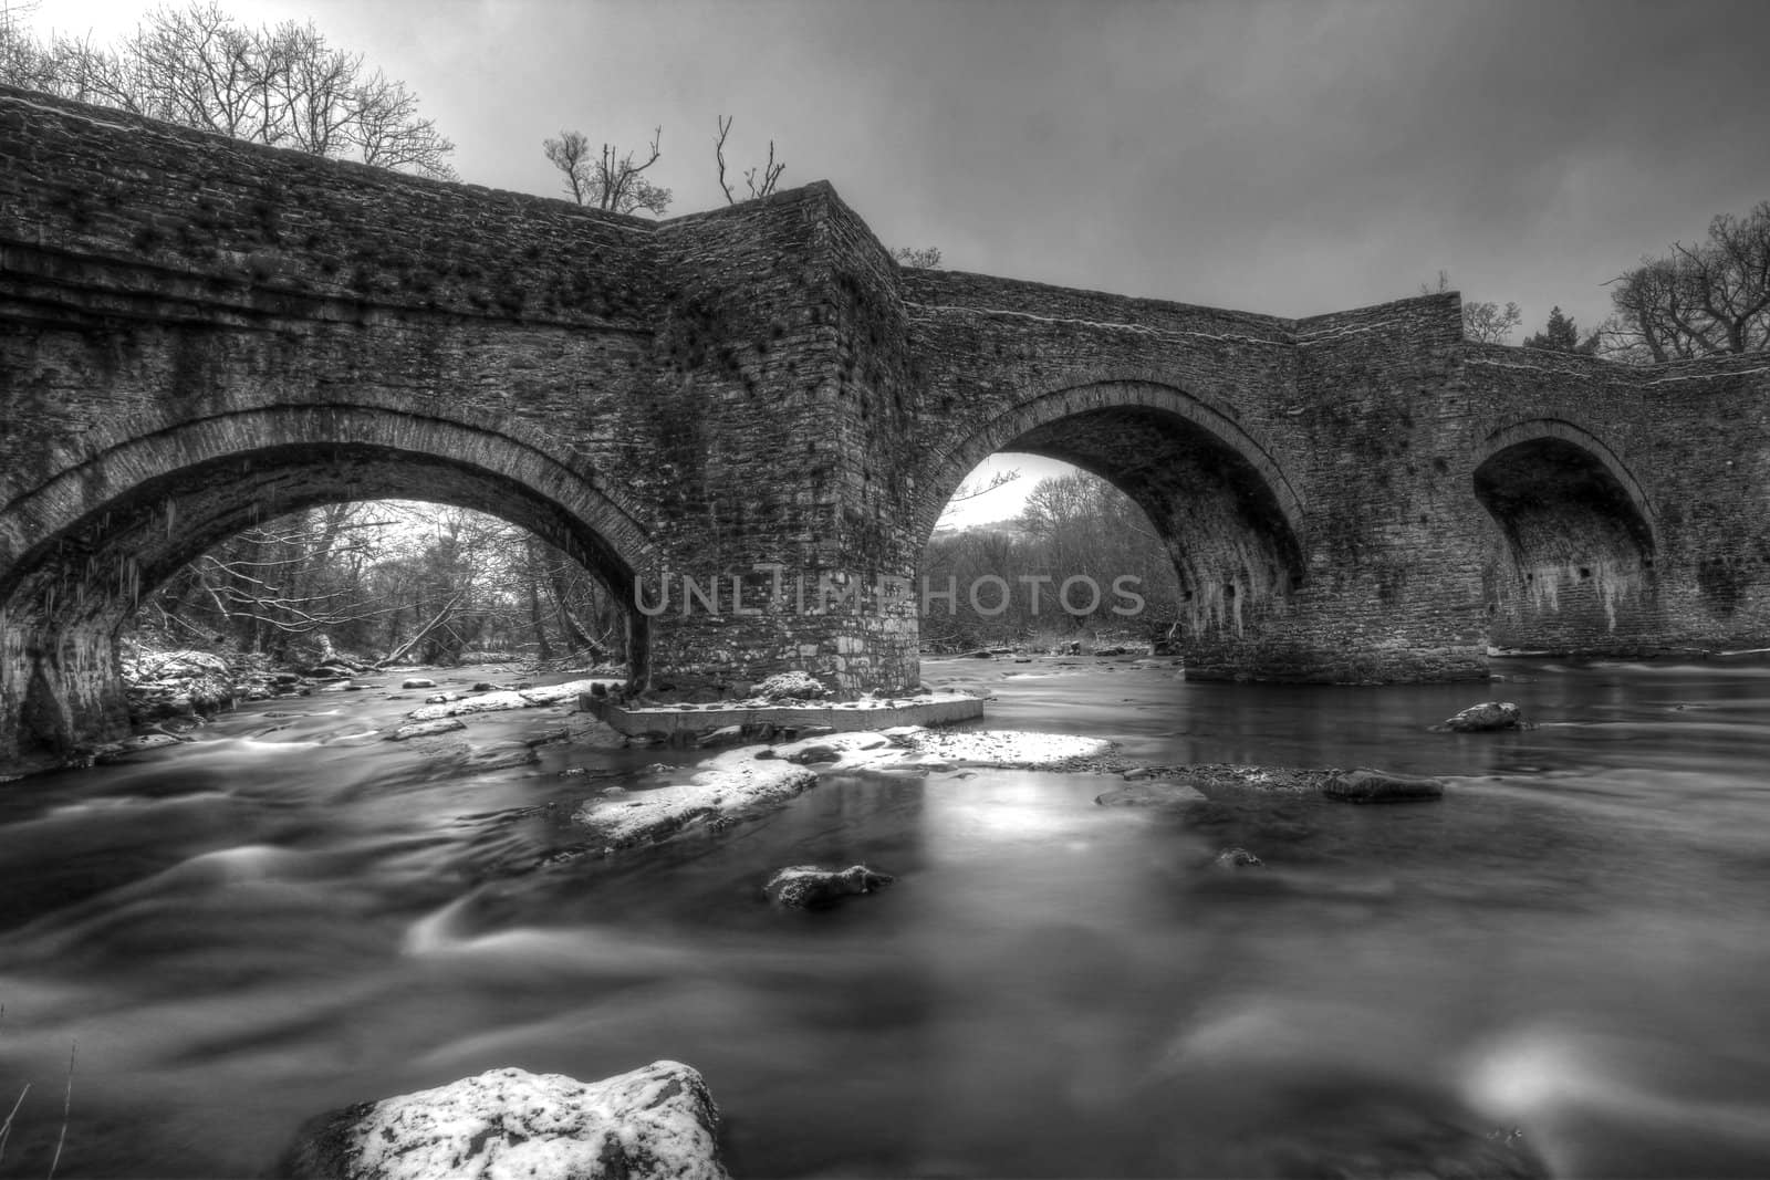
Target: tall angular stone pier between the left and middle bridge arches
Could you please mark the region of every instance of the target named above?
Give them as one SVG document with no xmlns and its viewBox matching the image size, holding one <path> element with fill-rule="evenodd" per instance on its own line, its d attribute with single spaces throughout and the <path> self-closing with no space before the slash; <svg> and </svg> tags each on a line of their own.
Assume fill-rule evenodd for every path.
<svg viewBox="0 0 1770 1180">
<path fill-rule="evenodd" d="M 671 522 L 660 662 L 733 683 L 805 669 L 846 692 L 913 685 L 913 623 L 853 596 L 901 564 L 881 540 L 901 465 L 869 453 L 897 437 L 874 430 L 876 405 L 901 396 L 894 264 L 825 184 L 667 223 L 658 241 L 658 373 L 635 414 L 660 419 L 650 446 L 666 460 L 641 485 Z M 678 540 L 681 520 L 706 527 Z M 848 596 L 821 609 L 827 582 Z"/>
</svg>

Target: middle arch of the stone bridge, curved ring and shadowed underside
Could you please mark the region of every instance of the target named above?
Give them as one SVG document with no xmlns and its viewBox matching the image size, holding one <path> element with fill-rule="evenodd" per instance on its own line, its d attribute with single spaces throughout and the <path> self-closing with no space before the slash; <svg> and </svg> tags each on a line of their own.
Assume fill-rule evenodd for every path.
<svg viewBox="0 0 1770 1180">
<path fill-rule="evenodd" d="M 1304 506 L 1292 481 L 1248 430 L 1184 389 L 1101 380 L 1020 402 L 927 464 L 919 538 L 997 451 L 1073 464 L 1136 502 L 1168 547 L 1195 632 L 1239 632 L 1250 612 L 1303 586 Z"/>
</svg>

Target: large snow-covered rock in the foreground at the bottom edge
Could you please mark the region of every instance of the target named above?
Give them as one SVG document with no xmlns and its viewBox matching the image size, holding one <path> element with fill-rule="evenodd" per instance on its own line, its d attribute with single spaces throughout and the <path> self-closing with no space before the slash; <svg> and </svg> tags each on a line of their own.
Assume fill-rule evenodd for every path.
<svg viewBox="0 0 1770 1180">
<path fill-rule="evenodd" d="M 727 1180 L 697 1070 L 653 1061 L 604 1081 L 497 1069 L 322 1115 L 283 1159 L 299 1180 Z"/>
</svg>

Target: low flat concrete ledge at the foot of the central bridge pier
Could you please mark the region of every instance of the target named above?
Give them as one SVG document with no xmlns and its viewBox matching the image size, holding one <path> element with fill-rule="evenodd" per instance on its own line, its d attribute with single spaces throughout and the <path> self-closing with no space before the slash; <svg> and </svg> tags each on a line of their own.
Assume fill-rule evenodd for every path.
<svg viewBox="0 0 1770 1180">
<path fill-rule="evenodd" d="M 607 697 L 579 697 L 579 708 L 623 734 L 667 734 L 669 738 L 703 734 L 727 725 L 773 727 L 800 731 L 809 725 L 828 725 L 835 731 L 890 729 L 894 725 L 947 725 L 972 722 L 984 715 L 981 697 L 966 693 L 935 693 L 927 697 L 896 697 L 880 701 L 843 701 L 839 704 L 750 704 L 743 701 L 719 704 L 666 704 L 627 708 Z"/>
</svg>

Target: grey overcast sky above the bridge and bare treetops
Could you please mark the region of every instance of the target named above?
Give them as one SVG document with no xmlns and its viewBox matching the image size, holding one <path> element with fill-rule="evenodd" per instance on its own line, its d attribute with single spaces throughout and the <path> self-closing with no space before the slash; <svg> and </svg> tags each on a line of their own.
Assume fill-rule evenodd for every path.
<svg viewBox="0 0 1770 1180">
<path fill-rule="evenodd" d="M 14 0 L 16 4 L 16 0 Z M 149 5 L 42 0 L 41 30 Z M 887 246 L 1285 317 L 1559 304 L 1770 198 L 1770 4 L 1593 0 L 223 0 L 405 80 L 464 180 L 559 193 L 542 140 L 664 129 L 671 212 L 775 142 Z M 1000 495 L 1000 494 L 998 494 Z M 991 513 L 982 513 L 991 515 Z"/>
</svg>

